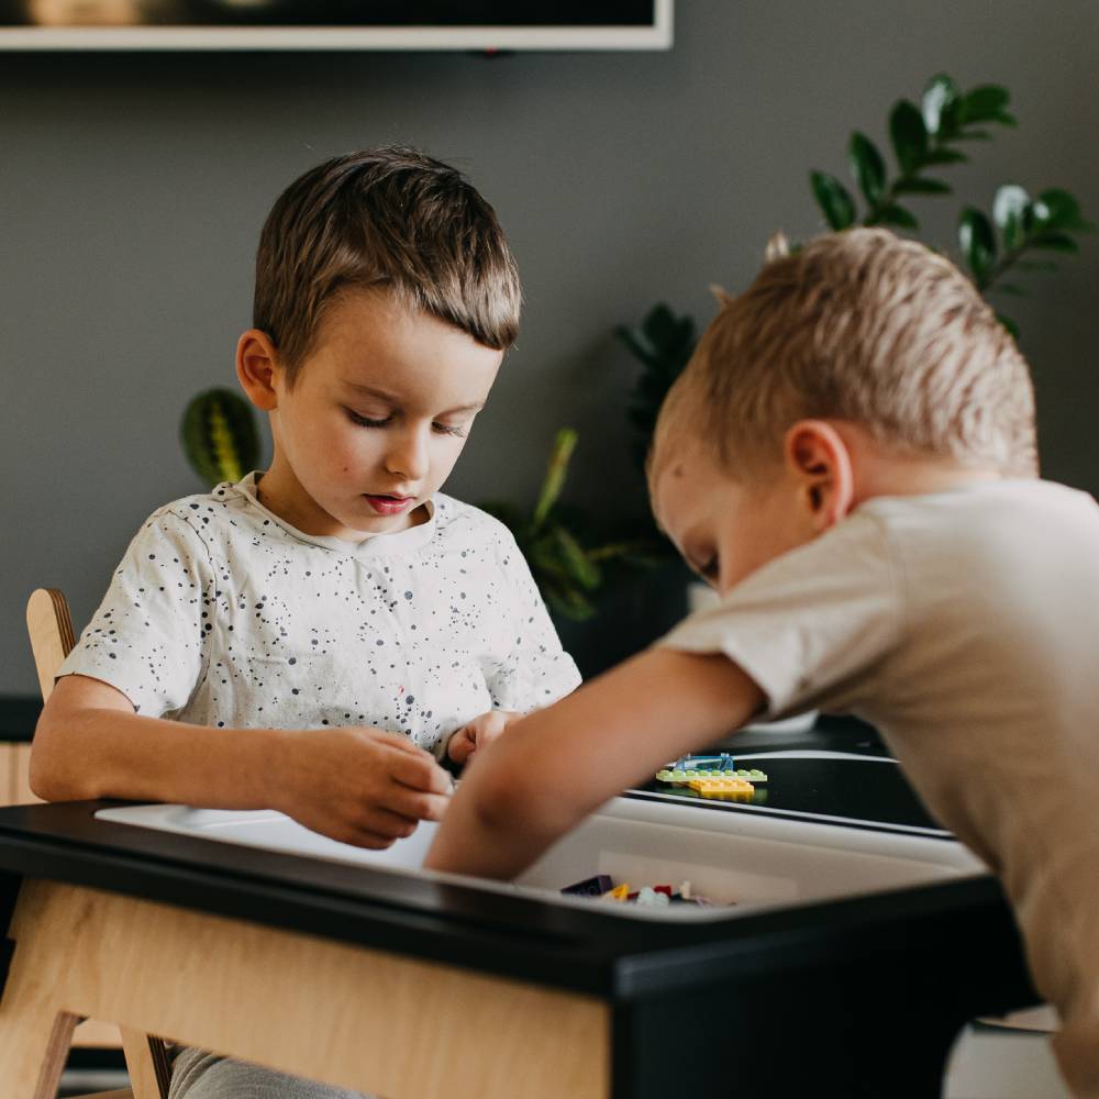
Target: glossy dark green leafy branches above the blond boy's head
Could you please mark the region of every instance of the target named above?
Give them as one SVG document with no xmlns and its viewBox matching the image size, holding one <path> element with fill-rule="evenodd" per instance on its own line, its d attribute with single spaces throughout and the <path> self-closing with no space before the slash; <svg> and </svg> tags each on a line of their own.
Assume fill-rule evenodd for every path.
<svg viewBox="0 0 1099 1099">
<path fill-rule="evenodd" d="M 932 77 L 919 106 L 902 99 L 889 112 L 889 141 L 896 159 L 891 177 L 877 145 L 866 134 L 854 131 L 847 143 L 847 163 L 866 204 L 862 217 L 855 198 L 835 176 L 825 171 L 809 175 L 813 197 L 829 226 L 844 230 L 857 223 L 919 230 L 919 220 L 901 199 L 953 193 L 948 184 L 925 173 L 968 160 L 959 145 L 989 141 L 992 126 L 1018 125 L 1008 112 L 1009 100 L 1007 89 L 999 85 L 962 91 L 945 74 Z M 963 264 L 983 295 L 1022 296 L 1025 291 L 1021 286 L 1002 281 L 1008 271 L 1056 270 L 1056 264 L 1030 255 L 1076 253 L 1076 234 L 1092 229 L 1068 191 L 1048 188 L 1032 198 L 1018 184 L 1004 184 L 997 188 L 991 217 L 975 206 L 962 208 L 957 240 Z M 997 315 L 1018 338 L 1015 323 L 1003 313 Z"/>
</svg>

